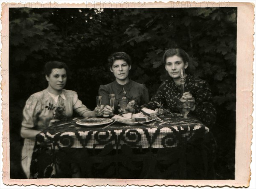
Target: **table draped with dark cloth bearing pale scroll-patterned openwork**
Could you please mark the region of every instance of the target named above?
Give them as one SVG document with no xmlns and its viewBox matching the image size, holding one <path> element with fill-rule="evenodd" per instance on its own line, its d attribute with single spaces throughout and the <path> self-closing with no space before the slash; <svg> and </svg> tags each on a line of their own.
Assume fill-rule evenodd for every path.
<svg viewBox="0 0 256 189">
<path fill-rule="evenodd" d="M 215 143 L 207 126 L 181 115 L 149 126 L 114 123 L 87 128 L 55 124 L 36 136 L 32 178 L 215 179 Z"/>
</svg>

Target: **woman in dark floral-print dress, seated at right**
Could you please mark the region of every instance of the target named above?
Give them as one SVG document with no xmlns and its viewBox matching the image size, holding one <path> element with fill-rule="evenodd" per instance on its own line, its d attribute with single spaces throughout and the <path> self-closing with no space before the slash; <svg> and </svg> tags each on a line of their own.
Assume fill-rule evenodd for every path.
<svg viewBox="0 0 256 189">
<path fill-rule="evenodd" d="M 188 67 L 189 55 L 183 49 L 168 49 L 164 53 L 162 61 L 170 78 L 160 85 L 150 102 L 143 106 L 148 109 L 156 109 L 163 105 L 170 112 L 179 112 L 177 99 L 187 99 L 194 102 L 189 115 L 197 117 L 207 126 L 212 126 L 215 123 L 216 110 L 207 81 L 185 74 L 186 92 L 181 94 L 179 70 Z"/>
</svg>

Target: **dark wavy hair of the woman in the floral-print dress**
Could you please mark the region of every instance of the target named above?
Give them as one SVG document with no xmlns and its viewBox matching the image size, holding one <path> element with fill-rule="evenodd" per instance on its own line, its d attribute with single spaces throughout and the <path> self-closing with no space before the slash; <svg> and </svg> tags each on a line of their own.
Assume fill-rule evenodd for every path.
<svg viewBox="0 0 256 189">
<path fill-rule="evenodd" d="M 168 49 L 163 54 L 162 63 L 166 64 L 166 58 L 173 56 L 181 57 L 184 63 L 189 62 L 189 54 L 187 54 L 183 49 Z"/>
</svg>

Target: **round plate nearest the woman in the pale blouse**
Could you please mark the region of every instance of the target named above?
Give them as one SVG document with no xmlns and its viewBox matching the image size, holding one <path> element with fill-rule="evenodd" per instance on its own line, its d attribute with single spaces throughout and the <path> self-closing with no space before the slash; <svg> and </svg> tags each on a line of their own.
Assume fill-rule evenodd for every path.
<svg viewBox="0 0 256 189">
<path fill-rule="evenodd" d="M 111 122 L 113 122 L 113 120 L 108 118 L 90 117 L 90 118 L 81 119 L 77 121 L 76 124 L 81 126 L 93 127 L 93 126 L 105 125 Z"/>
</svg>

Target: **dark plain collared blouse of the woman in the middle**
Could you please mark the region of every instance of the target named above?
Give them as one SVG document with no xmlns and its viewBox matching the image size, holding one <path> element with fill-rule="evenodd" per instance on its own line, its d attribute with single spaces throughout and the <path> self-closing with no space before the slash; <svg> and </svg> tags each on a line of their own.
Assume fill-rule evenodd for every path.
<svg viewBox="0 0 256 189">
<path fill-rule="evenodd" d="M 114 80 L 107 85 L 99 87 L 99 95 L 102 96 L 102 104 L 110 105 L 109 94 L 115 94 L 115 113 L 118 113 L 118 103 L 122 97 L 126 97 L 128 102 L 135 101 L 136 107 L 148 103 L 148 89 L 144 84 L 130 80 L 125 85 L 120 85 Z M 138 110 L 136 107 L 135 110 Z"/>
</svg>

